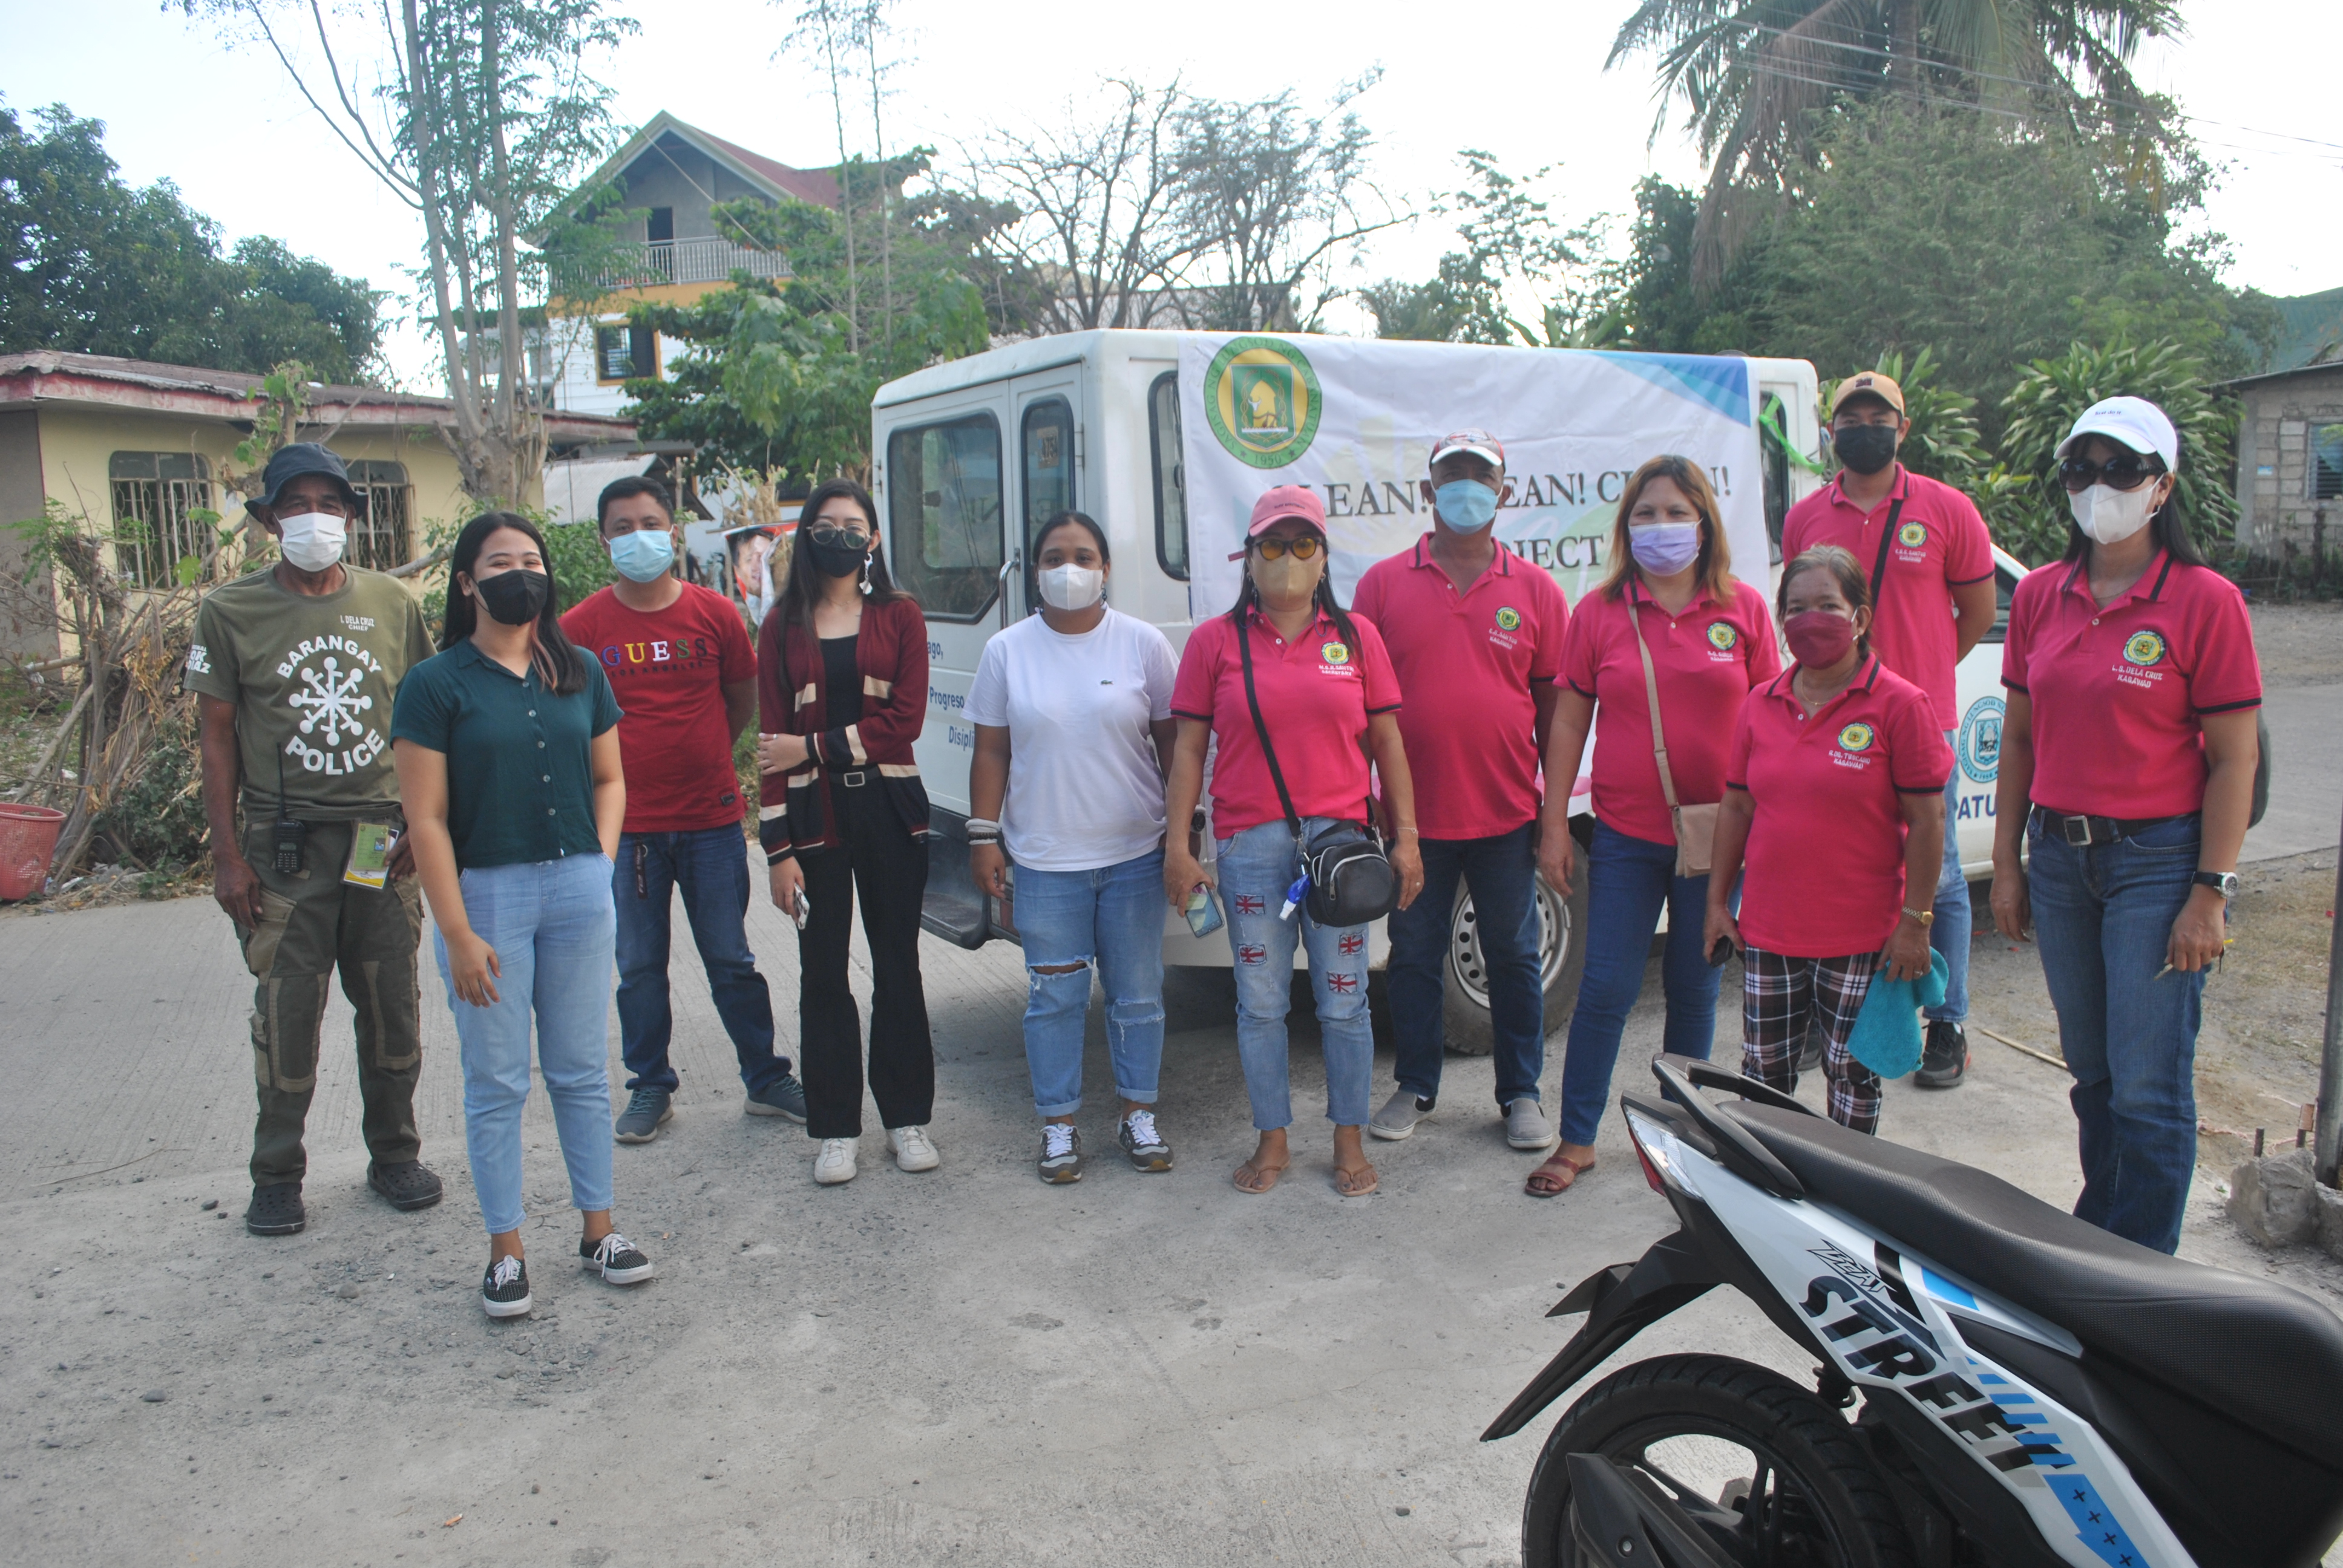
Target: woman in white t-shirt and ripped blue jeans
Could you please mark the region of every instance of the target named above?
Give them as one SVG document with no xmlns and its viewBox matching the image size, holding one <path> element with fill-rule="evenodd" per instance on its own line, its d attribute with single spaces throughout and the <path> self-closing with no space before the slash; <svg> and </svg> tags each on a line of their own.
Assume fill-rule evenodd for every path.
<svg viewBox="0 0 2343 1568">
<path fill-rule="evenodd" d="M 1132 1165 L 1172 1170 L 1155 1127 L 1164 1055 L 1164 769 L 1172 645 L 1106 605 L 1106 530 L 1080 511 L 1033 551 L 1043 609 L 984 645 L 968 689 L 968 870 L 1007 898 L 1026 954 L 1026 1066 L 1043 1118 L 1040 1179 L 1082 1179 L 1082 1017 L 1089 966 L 1106 987 L 1106 1050 Z M 1005 851 L 1005 853 L 1003 853 Z"/>
</svg>

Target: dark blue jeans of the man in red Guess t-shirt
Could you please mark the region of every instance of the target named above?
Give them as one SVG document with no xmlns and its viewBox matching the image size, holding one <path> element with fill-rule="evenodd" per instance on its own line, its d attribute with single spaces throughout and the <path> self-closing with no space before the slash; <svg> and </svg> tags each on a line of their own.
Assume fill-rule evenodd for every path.
<svg viewBox="0 0 2343 1568">
<path fill-rule="evenodd" d="M 612 898 L 619 905 L 619 1048 L 630 1090 L 675 1092 L 668 1041 L 668 928 L 672 891 L 684 891 L 691 945 L 701 949 L 717 1017 L 740 1057 L 750 1095 L 785 1078 L 790 1059 L 773 1055 L 773 994 L 747 949 L 747 844 L 738 825 L 698 832 L 623 832 Z"/>
</svg>

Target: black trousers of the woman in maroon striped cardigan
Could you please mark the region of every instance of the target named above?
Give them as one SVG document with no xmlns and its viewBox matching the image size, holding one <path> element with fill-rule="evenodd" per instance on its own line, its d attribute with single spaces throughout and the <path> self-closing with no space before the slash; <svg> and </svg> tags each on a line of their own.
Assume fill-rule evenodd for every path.
<svg viewBox="0 0 2343 1568">
<path fill-rule="evenodd" d="M 811 1137 L 862 1134 L 862 1015 L 846 987 L 853 900 L 872 945 L 872 1099 L 881 1127 L 923 1127 L 935 1113 L 935 1043 L 918 982 L 918 907 L 928 893 L 928 846 L 872 783 L 834 788 L 839 841 L 801 855 L 813 916 L 797 935 L 799 1071 Z"/>
</svg>

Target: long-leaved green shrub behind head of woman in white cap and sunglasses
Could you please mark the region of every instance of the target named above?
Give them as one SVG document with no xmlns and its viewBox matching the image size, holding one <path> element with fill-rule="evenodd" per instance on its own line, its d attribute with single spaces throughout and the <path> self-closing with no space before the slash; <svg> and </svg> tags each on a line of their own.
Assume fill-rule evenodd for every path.
<svg viewBox="0 0 2343 1568">
<path fill-rule="evenodd" d="M 2146 398 L 2165 410 L 2181 438 L 2181 516 L 2209 548 L 2235 539 L 2238 495 L 2231 471 L 2238 398 L 2207 387 L 2205 363 L 2177 342 L 2076 342 L 2055 359 L 2027 366 L 2001 403 L 2001 459 L 2010 476 L 2024 480 L 2001 509 L 2001 548 L 2029 563 L 2055 560 L 2067 551 L 2067 492 L 2055 476 L 2057 448 L 2085 408 L 2113 396 Z"/>
</svg>

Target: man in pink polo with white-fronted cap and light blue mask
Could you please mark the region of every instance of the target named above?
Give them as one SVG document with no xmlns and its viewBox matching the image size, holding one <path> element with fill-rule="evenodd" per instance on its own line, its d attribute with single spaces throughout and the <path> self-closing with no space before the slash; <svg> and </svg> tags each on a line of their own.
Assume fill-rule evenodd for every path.
<svg viewBox="0 0 2343 1568">
<path fill-rule="evenodd" d="M 1401 1139 L 1441 1092 L 1443 970 L 1457 879 L 1471 888 L 1488 975 L 1497 1109 L 1514 1148 L 1546 1148 L 1539 1104 L 1546 991 L 1537 968 L 1537 755 L 1553 722 L 1570 607 L 1539 567 L 1497 544 L 1504 448 L 1485 431 L 1432 445 L 1432 532 L 1378 560 L 1352 609 L 1399 675 L 1399 734 L 1415 776 L 1425 893 L 1392 914 L 1399 1088 L 1368 1132 Z"/>
</svg>

